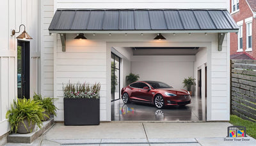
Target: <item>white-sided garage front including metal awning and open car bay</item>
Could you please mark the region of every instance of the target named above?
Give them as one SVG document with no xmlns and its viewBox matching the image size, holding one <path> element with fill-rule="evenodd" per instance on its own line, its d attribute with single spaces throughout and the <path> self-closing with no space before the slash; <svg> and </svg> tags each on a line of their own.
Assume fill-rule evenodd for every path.
<svg viewBox="0 0 256 146">
<path fill-rule="evenodd" d="M 69 81 L 100 82 L 101 121 L 228 120 L 227 33 L 237 29 L 227 10 L 58 9 L 49 26 L 54 120 L 63 121 Z M 130 73 L 142 82 L 129 85 Z"/>
</svg>

